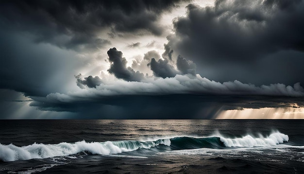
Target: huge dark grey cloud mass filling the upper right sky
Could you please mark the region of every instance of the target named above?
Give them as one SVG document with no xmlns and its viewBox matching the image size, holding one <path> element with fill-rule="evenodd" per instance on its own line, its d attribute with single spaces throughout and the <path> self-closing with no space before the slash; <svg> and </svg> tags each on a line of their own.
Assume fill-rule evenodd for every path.
<svg viewBox="0 0 304 174">
<path fill-rule="evenodd" d="M 291 58 L 304 55 L 303 9 L 303 0 L 217 0 L 203 8 L 189 4 L 186 17 L 174 19 L 175 34 L 167 37 L 164 54 L 174 50 L 193 60 L 201 75 L 217 81 L 303 83 L 304 59 Z M 294 69 L 286 71 L 287 64 Z"/>
</svg>

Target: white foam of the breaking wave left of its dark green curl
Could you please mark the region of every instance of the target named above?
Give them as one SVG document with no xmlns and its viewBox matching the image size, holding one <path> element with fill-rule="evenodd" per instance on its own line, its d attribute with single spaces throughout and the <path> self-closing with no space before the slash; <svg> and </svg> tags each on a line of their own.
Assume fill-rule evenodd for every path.
<svg viewBox="0 0 304 174">
<path fill-rule="evenodd" d="M 129 152 L 138 148 L 149 149 L 159 144 L 169 145 L 170 140 L 158 140 L 149 142 L 139 141 L 106 141 L 106 142 L 85 142 L 75 143 L 61 142 L 59 144 L 34 143 L 28 146 L 17 147 L 14 144 L 0 144 L 0 160 L 15 161 L 33 158 L 63 157 L 74 155 L 80 152 L 89 152 L 98 155 L 119 154 Z"/>
</svg>

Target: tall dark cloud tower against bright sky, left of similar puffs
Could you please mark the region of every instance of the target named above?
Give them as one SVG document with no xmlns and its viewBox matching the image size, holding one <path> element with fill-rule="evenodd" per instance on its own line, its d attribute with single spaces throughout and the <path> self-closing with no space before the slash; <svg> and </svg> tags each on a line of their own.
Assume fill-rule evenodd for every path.
<svg viewBox="0 0 304 174">
<path fill-rule="evenodd" d="M 109 62 L 111 63 L 108 69 L 109 73 L 114 74 L 118 79 L 126 81 L 140 81 L 143 79 L 144 74 L 133 70 L 131 67 L 127 68 L 127 60 L 122 57 L 122 52 L 116 48 L 111 48 L 108 52 Z"/>
</svg>

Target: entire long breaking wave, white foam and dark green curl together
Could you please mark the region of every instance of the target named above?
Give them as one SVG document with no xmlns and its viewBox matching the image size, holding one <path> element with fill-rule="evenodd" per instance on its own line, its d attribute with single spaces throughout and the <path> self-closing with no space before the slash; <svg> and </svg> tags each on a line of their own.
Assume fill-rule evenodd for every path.
<svg viewBox="0 0 304 174">
<path fill-rule="evenodd" d="M 89 153 L 98 155 L 119 154 L 138 149 L 157 148 L 157 150 L 183 150 L 198 148 L 224 149 L 230 147 L 254 147 L 270 146 L 288 141 L 288 135 L 274 132 L 267 137 L 254 137 L 246 135 L 242 138 L 225 138 L 219 133 L 212 137 L 174 137 L 171 139 L 157 139 L 152 141 L 106 141 L 106 142 L 86 142 L 75 143 L 61 142 L 59 144 L 34 143 L 28 146 L 18 147 L 14 144 L 0 144 L 0 160 L 15 161 L 33 158 L 63 157 L 78 153 Z"/>
</svg>

